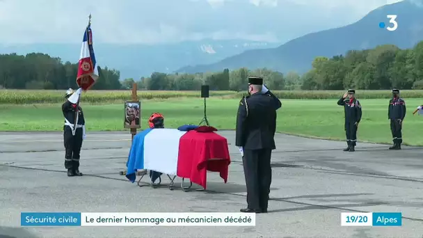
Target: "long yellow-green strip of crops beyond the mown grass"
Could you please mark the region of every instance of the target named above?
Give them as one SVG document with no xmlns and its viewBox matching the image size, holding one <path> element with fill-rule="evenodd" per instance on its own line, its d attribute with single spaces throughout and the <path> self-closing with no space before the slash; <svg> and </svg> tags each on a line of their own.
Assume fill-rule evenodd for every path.
<svg viewBox="0 0 423 238">
<path fill-rule="evenodd" d="M 0 90 L 0 104 L 58 103 L 64 100 L 64 90 Z M 281 99 L 335 99 L 345 91 L 339 90 L 296 90 L 274 91 Z M 174 97 L 200 97 L 199 91 L 138 91 L 140 100 L 166 100 Z M 211 91 L 210 97 L 241 98 L 245 92 Z M 357 90 L 361 99 L 387 99 L 392 97 L 390 90 Z M 401 90 L 401 97 L 420 98 L 423 90 Z M 131 100 L 130 90 L 100 91 L 90 90 L 83 94 L 83 101 L 90 103 L 122 102 Z"/>
</svg>

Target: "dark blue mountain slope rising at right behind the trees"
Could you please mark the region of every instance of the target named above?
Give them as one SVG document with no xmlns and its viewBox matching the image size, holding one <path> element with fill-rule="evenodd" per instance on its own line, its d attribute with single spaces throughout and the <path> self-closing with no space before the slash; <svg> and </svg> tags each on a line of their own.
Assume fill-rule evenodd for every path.
<svg viewBox="0 0 423 238">
<path fill-rule="evenodd" d="M 395 31 L 385 29 L 390 24 L 387 15 L 397 15 Z M 380 28 L 383 22 L 385 28 Z M 317 56 L 345 54 L 351 49 L 369 49 L 392 44 L 410 48 L 423 40 L 423 6 L 416 1 L 401 1 L 373 10 L 362 19 L 347 26 L 309 33 L 269 49 L 252 49 L 212 64 L 186 66 L 175 72 L 218 72 L 246 67 L 269 68 L 279 72 L 303 73 L 311 68 Z"/>
</svg>

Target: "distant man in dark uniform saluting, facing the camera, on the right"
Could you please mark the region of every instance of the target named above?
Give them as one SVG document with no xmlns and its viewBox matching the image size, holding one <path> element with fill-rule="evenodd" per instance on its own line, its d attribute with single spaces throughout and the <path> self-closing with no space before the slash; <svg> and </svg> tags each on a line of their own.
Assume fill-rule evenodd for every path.
<svg viewBox="0 0 423 238">
<path fill-rule="evenodd" d="M 353 95 L 356 93 L 356 90 L 349 89 L 348 93 Z M 345 134 L 346 134 L 346 144 L 348 147 L 344 149 L 344 151 L 355 151 L 354 147 L 357 144 L 357 128 L 358 123 L 361 120 L 361 105 L 360 102 L 356 99 L 356 97 L 351 98 L 344 98 L 341 97 L 338 101 L 338 105 L 344 106 L 344 113 L 345 113 Z"/>
</svg>

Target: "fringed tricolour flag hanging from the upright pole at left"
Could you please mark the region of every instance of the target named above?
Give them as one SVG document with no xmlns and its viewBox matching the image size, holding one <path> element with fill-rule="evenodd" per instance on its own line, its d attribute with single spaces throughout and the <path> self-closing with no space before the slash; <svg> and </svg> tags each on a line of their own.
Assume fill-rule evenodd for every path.
<svg viewBox="0 0 423 238">
<path fill-rule="evenodd" d="M 81 56 L 79 57 L 79 68 L 77 74 L 77 84 L 82 90 L 90 89 L 98 79 L 97 61 L 93 48 L 93 31 L 91 23 L 88 23 L 85 33 L 83 33 Z"/>
</svg>

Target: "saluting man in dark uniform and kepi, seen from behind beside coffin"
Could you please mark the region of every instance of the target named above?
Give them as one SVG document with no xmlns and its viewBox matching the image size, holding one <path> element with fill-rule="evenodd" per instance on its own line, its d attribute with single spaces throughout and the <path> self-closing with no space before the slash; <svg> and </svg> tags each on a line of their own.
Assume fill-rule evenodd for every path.
<svg viewBox="0 0 423 238">
<path fill-rule="evenodd" d="M 248 93 L 239 102 L 236 145 L 242 155 L 248 207 L 241 212 L 267 212 L 271 185 L 271 152 L 276 149 L 276 110 L 280 100 L 263 86 L 261 77 L 248 78 Z"/>
</svg>

